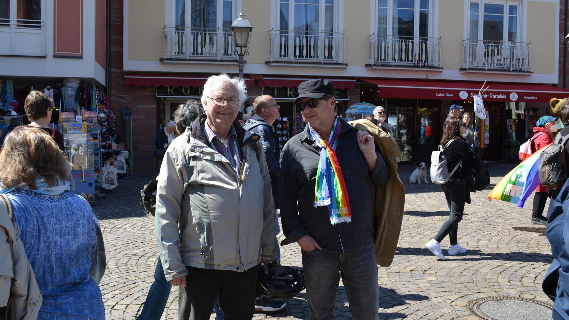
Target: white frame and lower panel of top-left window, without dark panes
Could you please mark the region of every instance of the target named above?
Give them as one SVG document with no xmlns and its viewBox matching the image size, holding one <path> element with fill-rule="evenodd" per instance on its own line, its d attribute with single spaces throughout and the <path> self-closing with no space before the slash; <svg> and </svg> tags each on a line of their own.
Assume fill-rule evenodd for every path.
<svg viewBox="0 0 569 320">
<path fill-rule="evenodd" d="M 18 27 L 18 1 L 10 0 L 9 26 L 0 27 L 0 39 L 5 45 L 0 47 L 1 55 L 46 56 L 47 52 L 47 0 L 41 0 L 42 17 L 39 28 Z M 31 38 L 31 39 L 28 39 Z M 38 42 L 38 38 L 40 41 Z M 10 39 L 9 42 L 4 41 Z M 26 43 L 18 46 L 18 42 Z M 33 44 L 33 46 L 31 46 Z"/>
</svg>

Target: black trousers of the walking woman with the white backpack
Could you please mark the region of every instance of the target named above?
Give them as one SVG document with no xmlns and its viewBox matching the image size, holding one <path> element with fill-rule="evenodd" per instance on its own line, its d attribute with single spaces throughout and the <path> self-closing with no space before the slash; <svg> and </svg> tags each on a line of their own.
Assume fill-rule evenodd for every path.
<svg viewBox="0 0 569 320">
<path fill-rule="evenodd" d="M 444 197 L 447 198 L 448 210 L 451 215 L 447 221 L 444 221 L 440 227 L 439 233 L 434 239 L 440 243 L 444 237 L 448 235 L 451 245 L 458 244 L 457 233 L 459 222 L 464 214 L 464 204 L 466 203 L 466 185 L 449 181 L 441 185 L 443 187 Z"/>
</svg>

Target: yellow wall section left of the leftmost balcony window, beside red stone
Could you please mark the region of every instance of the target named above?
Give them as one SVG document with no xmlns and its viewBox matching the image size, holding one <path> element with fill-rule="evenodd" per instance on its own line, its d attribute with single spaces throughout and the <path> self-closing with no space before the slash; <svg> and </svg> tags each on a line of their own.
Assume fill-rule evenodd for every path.
<svg viewBox="0 0 569 320">
<path fill-rule="evenodd" d="M 164 1 L 129 1 L 129 60 L 164 58 Z"/>
</svg>

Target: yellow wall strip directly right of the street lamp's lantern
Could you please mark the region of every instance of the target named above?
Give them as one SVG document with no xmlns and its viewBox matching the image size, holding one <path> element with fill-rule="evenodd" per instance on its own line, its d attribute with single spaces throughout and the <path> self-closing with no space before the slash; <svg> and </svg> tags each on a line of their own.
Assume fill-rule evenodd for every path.
<svg viewBox="0 0 569 320">
<path fill-rule="evenodd" d="M 249 55 L 245 60 L 248 63 L 265 63 L 270 58 L 271 1 L 243 0 L 242 8 L 245 19 L 253 26 Z"/>
</svg>

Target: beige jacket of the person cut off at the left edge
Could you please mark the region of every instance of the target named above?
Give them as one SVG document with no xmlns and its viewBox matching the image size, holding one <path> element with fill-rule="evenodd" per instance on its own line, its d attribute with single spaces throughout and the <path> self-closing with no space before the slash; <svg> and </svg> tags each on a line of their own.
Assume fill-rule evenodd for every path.
<svg viewBox="0 0 569 320">
<path fill-rule="evenodd" d="M 36 319 L 42 306 L 42 293 L 20 240 L 20 227 L 12 223 L 1 201 L 0 230 L 0 306 L 6 306 L 11 297 L 16 319 Z"/>
</svg>

